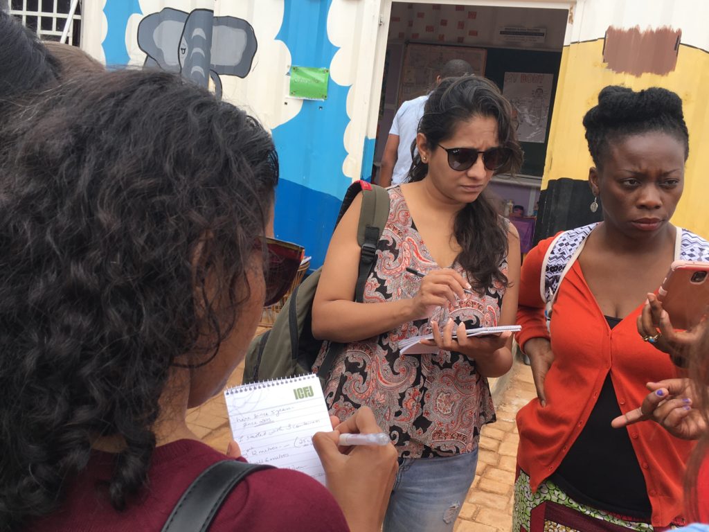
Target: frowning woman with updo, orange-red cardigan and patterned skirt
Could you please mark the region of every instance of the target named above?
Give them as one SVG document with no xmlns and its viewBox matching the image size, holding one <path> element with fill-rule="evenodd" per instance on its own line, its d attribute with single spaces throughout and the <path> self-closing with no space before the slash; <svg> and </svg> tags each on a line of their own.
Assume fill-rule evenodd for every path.
<svg viewBox="0 0 709 532">
<path fill-rule="evenodd" d="M 590 207 L 600 205 L 603 221 L 542 240 L 522 268 L 518 343 L 538 397 L 517 416 L 513 530 L 665 530 L 685 517 L 693 443 L 651 423 L 611 421 L 642 402 L 646 383 L 679 372 L 654 348 L 659 335 L 637 327 L 671 262 L 709 259 L 706 240 L 669 222 L 689 135 L 681 99 L 658 87 L 605 87 L 584 126 Z M 555 299 L 542 297 L 564 267 Z"/>
</svg>

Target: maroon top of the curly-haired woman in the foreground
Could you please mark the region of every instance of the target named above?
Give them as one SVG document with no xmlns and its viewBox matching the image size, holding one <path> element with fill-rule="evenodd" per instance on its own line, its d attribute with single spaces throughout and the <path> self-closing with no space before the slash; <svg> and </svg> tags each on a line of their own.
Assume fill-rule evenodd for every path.
<svg viewBox="0 0 709 532">
<path fill-rule="evenodd" d="M 118 512 L 108 502 L 105 481 L 112 457 L 97 452 L 72 482 L 60 511 L 35 521 L 28 532 L 160 532 L 191 482 L 225 456 L 195 440 L 155 449 L 149 485 Z M 210 532 L 348 531 L 345 516 L 328 490 L 303 473 L 271 469 L 252 473 L 232 490 Z"/>
</svg>

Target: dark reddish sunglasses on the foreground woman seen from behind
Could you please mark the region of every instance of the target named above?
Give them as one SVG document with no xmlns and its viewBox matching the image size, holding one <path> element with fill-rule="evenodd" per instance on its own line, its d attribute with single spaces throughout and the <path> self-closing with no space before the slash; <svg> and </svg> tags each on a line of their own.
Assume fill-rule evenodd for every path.
<svg viewBox="0 0 709 532">
<path fill-rule="evenodd" d="M 303 246 L 276 238 L 259 238 L 267 248 L 268 257 L 264 261 L 266 279 L 266 299 L 264 306 L 278 303 L 291 289 L 298 268 L 303 260 Z"/>
</svg>

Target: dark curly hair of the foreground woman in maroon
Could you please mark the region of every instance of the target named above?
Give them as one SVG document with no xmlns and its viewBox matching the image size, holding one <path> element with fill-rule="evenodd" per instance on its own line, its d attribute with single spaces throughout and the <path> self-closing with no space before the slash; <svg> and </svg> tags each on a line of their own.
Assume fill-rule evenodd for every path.
<svg viewBox="0 0 709 532">
<path fill-rule="evenodd" d="M 0 531 L 57 509 L 99 436 L 125 440 L 113 506 L 145 484 L 171 366 L 211 360 L 238 320 L 278 179 L 255 119 L 167 72 L 72 79 L 12 118 L 0 124 Z"/>
</svg>

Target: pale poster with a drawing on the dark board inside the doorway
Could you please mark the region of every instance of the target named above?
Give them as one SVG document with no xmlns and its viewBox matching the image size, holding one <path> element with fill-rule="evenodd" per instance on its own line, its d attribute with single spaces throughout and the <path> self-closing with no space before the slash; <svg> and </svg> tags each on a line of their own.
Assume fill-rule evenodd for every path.
<svg viewBox="0 0 709 532">
<path fill-rule="evenodd" d="M 554 74 L 505 72 L 502 94 L 517 111 L 517 138 L 525 143 L 547 140 Z"/>
</svg>

